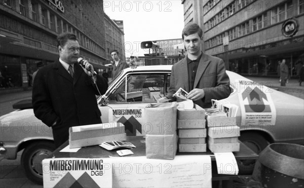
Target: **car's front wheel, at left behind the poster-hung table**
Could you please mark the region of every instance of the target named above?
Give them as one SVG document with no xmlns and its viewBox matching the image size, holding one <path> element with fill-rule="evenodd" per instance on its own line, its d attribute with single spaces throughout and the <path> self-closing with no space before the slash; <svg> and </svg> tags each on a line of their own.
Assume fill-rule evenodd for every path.
<svg viewBox="0 0 304 188">
<path fill-rule="evenodd" d="M 38 184 L 43 184 L 42 160 L 49 157 L 55 150 L 55 144 L 47 141 L 37 141 L 26 147 L 21 156 L 21 165 L 26 177 Z"/>
</svg>

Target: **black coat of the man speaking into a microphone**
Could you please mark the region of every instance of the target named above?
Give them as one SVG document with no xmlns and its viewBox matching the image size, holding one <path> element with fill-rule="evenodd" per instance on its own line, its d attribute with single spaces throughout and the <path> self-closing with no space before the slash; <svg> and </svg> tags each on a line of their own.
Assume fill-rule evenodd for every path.
<svg viewBox="0 0 304 188">
<path fill-rule="evenodd" d="M 104 94 L 107 82 L 98 76 L 97 85 Z M 59 60 L 37 72 L 32 91 L 34 114 L 49 127 L 57 121 L 52 126 L 56 146 L 68 139 L 69 127 L 101 123 L 95 94 L 99 95 L 96 86 L 78 63 L 74 64 L 74 79 Z"/>
</svg>

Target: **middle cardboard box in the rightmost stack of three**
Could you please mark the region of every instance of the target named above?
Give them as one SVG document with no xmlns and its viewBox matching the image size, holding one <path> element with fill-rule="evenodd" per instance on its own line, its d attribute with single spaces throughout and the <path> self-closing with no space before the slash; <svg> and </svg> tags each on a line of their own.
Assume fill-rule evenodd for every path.
<svg viewBox="0 0 304 188">
<path fill-rule="evenodd" d="M 207 128 L 208 136 L 211 138 L 226 138 L 240 136 L 239 126 L 225 126 L 225 127 L 210 127 Z"/>
</svg>

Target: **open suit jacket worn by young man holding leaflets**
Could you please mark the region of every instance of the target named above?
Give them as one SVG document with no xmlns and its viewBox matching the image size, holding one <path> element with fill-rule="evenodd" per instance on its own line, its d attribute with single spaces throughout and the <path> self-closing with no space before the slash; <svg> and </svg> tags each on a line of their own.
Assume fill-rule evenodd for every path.
<svg viewBox="0 0 304 188">
<path fill-rule="evenodd" d="M 193 88 L 203 89 L 205 97 L 194 101 L 194 103 L 203 108 L 211 107 L 211 99 L 220 100 L 230 95 L 229 85 L 230 80 L 226 74 L 223 60 L 203 53 Z M 172 66 L 170 88 L 166 97 L 173 99 L 172 95 L 179 88 L 190 92 L 186 57 Z"/>
</svg>

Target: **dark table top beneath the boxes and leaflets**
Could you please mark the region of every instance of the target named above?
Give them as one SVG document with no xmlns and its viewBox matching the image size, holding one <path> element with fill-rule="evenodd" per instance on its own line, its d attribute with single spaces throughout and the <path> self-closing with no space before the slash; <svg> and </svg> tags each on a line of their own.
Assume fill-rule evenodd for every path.
<svg viewBox="0 0 304 188">
<path fill-rule="evenodd" d="M 131 142 L 136 146 L 132 148 L 134 155 L 132 156 L 145 156 L 145 138 L 143 136 L 128 136 L 127 141 Z M 98 146 L 87 146 L 82 147 L 77 153 L 66 153 L 60 152 L 61 149 L 68 145 L 68 141 L 63 143 L 58 147 L 49 158 L 108 158 L 109 156 L 119 157 L 116 151 L 120 149 L 113 149 L 112 151 L 107 151 L 106 149 Z M 247 147 L 243 142 L 240 142 L 240 152 L 233 152 L 237 160 L 256 160 L 258 155 L 254 153 L 249 147 Z M 209 155 L 212 161 L 212 181 L 218 183 L 222 187 L 231 187 L 232 181 L 237 178 L 237 175 L 225 175 L 217 174 L 217 167 L 215 162 L 215 156 L 212 152 L 207 149 L 205 153 L 177 153 L 177 155 Z M 130 157 L 130 156 L 128 156 Z"/>
</svg>

